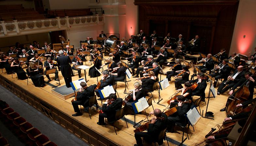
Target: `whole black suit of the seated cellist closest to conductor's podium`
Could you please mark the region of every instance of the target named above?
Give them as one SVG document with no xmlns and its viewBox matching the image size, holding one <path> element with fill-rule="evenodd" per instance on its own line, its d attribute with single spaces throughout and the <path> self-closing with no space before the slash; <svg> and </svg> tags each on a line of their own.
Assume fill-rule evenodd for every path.
<svg viewBox="0 0 256 146">
<path fill-rule="evenodd" d="M 94 96 L 94 89 L 96 86 L 97 85 L 91 85 L 84 89 L 82 92 L 77 92 L 76 101 L 72 102 L 74 111 L 76 113 L 80 113 L 78 105 L 82 105 L 84 108 L 88 107 L 89 97 Z"/>
</svg>

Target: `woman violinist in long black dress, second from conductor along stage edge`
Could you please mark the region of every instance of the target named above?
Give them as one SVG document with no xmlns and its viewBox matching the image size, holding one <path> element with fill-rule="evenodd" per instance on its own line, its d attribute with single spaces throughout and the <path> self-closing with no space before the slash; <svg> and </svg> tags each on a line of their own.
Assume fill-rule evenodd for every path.
<svg viewBox="0 0 256 146">
<path fill-rule="evenodd" d="M 17 57 L 14 57 L 14 60 L 11 63 L 12 70 L 17 73 L 19 80 L 27 79 L 27 75 L 25 71 L 22 69 L 22 65 L 24 62 L 20 62 Z"/>
</svg>

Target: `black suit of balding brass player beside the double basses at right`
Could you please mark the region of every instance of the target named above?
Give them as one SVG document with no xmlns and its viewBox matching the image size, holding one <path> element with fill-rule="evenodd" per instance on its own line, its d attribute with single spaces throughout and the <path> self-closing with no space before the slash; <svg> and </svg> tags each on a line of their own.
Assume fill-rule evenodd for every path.
<svg viewBox="0 0 256 146">
<path fill-rule="evenodd" d="M 237 74 L 237 75 L 236 75 Z M 217 89 L 217 92 L 220 92 L 220 94 L 222 94 L 222 93 L 224 93 L 224 92 L 226 92 L 226 91 L 228 91 L 228 89 L 230 89 L 230 88 L 232 88 L 232 90 L 234 91 L 234 85 L 236 84 L 236 83 L 238 83 L 241 79 L 243 79 L 243 78 L 245 78 L 245 71 L 241 71 L 240 73 L 238 73 L 238 71 L 237 70 L 235 70 L 235 72 L 232 74 L 232 76 L 234 77 L 234 75 L 236 75 L 235 76 L 235 78 L 234 78 L 234 81 L 228 81 L 228 82 L 222 82 L 220 85 L 219 85 L 219 87 L 218 87 L 218 89 Z M 226 84 L 224 84 L 224 83 L 226 83 Z M 226 85 L 228 85 L 228 86 L 226 86 Z M 225 87 L 226 86 L 226 87 Z"/>
</svg>

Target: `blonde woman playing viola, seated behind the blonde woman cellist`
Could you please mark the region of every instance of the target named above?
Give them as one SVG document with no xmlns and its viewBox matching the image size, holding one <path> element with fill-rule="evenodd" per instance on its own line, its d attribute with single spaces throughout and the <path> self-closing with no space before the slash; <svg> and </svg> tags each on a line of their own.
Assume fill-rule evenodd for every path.
<svg viewBox="0 0 256 146">
<path fill-rule="evenodd" d="M 154 83 L 158 80 L 158 78 L 155 76 L 153 71 L 149 71 L 148 76 L 149 76 L 149 78 L 145 78 L 145 79 L 141 79 L 141 80 L 139 78 L 137 78 L 137 80 L 141 83 L 141 87 L 145 91 L 152 91 Z"/>
</svg>

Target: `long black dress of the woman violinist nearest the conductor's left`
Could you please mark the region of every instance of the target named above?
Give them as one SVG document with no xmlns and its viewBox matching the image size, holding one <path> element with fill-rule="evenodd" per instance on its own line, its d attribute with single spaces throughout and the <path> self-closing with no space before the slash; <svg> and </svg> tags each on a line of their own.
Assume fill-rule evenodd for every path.
<svg viewBox="0 0 256 146">
<path fill-rule="evenodd" d="M 36 87 L 40 87 L 45 83 L 44 78 L 43 78 L 43 75 L 39 74 L 39 72 L 35 71 L 35 70 L 37 70 L 37 68 L 35 68 L 35 69 L 28 68 L 28 72 L 30 74 L 33 84 Z"/>
</svg>

